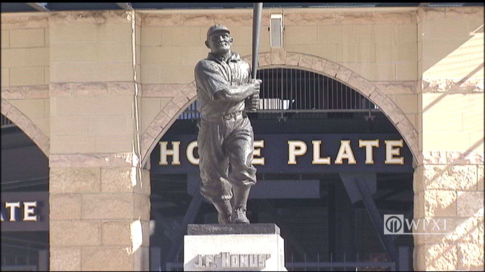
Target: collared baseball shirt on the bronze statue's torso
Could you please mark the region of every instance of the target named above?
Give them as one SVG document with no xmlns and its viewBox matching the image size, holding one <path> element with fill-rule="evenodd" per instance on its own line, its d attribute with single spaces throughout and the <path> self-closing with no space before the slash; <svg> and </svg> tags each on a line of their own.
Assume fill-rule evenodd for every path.
<svg viewBox="0 0 485 272">
<path fill-rule="evenodd" d="M 227 60 L 217 59 L 209 53 L 207 59 L 195 65 L 195 84 L 199 112 L 204 117 L 221 117 L 244 110 L 244 101 L 228 102 L 214 99 L 214 93 L 230 86 L 248 84 L 250 66 L 241 60 L 236 52 L 231 52 Z"/>
</svg>

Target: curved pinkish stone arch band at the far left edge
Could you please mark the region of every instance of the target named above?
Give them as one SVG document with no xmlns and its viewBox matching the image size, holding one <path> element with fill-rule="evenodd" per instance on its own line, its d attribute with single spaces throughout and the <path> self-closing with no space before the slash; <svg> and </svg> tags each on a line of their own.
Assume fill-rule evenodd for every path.
<svg viewBox="0 0 485 272">
<path fill-rule="evenodd" d="M 8 100 L 1 99 L 1 114 L 14 122 L 42 152 L 49 158 L 50 140 L 32 120 L 23 114 L 16 106 L 10 104 Z"/>
</svg>

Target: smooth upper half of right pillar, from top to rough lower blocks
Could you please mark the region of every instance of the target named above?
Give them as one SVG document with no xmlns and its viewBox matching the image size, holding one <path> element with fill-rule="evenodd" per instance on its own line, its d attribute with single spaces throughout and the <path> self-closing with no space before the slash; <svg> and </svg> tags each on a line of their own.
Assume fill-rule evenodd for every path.
<svg viewBox="0 0 485 272">
<path fill-rule="evenodd" d="M 423 149 L 483 151 L 483 8 L 468 17 L 426 11 L 418 28 Z"/>
</svg>

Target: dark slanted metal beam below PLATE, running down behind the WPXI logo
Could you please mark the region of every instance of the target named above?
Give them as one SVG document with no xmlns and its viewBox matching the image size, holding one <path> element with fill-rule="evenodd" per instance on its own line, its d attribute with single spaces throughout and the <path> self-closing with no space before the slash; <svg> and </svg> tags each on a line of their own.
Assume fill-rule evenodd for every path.
<svg viewBox="0 0 485 272">
<path fill-rule="evenodd" d="M 358 177 L 354 179 L 354 184 L 357 187 L 357 191 L 362 197 L 362 200 L 364 201 L 367 212 L 369 212 L 369 215 L 371 216 L 374 227 L 377 229 L 379 240 L 381 240 L 381 243 L 391 260 L 397 263 L 399 261 L 398 251 L 394 246 L 392 237 L 389 235 L 384 235 L 384 220 L 382 219 L 377 206 L 375 206 L 371 192 L 369 191 L 369 188 L 367 188 L 365 180 L 362 177 Z"/>
</svg>

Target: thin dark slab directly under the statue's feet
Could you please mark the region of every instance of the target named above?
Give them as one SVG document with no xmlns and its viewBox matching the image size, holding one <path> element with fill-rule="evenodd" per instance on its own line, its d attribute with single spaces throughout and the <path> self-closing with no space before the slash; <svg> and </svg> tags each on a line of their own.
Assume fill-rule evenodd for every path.
<svg viewBox="0 0 485 272">
<path fill-rule="evenodd" d="M 275 224 L 189 225 L 187 235 L 280 234 Z"/>
</svg>

